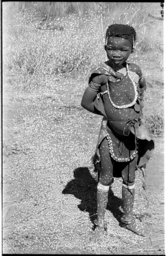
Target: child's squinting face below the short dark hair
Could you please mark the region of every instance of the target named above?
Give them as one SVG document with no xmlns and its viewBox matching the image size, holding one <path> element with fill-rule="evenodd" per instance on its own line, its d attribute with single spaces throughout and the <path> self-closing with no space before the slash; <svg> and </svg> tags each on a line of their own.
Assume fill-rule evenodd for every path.
<svg viewBox="0 0 166 256">
<path fill-rule="evenodd" d="M 107 57 L 116 66 L 122 65 L 131 54 L 131 43 L 121 37 L 109 37 L 105 47 Z"/>
</svg>

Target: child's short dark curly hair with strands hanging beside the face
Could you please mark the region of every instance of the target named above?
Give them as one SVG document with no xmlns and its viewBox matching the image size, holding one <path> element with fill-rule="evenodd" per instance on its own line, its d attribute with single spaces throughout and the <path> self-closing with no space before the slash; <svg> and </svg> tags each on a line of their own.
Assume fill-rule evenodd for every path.
<svg viewBox="0 0 166 256">
<path fill-rule="evenodd" d="M 105 45 L 107 45 L 107 41 L 110 36 L 127 39 L 131 43 L 132 48 L 134 48 L 133 44 L 136 41 L 136 31 L 132 26 L 124 24 L 110 25 L 106 31 Z"/>
</svg>

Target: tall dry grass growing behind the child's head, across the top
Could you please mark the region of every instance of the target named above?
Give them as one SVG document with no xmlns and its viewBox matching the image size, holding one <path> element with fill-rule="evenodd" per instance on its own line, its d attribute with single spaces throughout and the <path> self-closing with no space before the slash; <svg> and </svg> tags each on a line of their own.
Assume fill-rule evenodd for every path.
<svg viewBox="0 0 166 256">
<path fill-rule="evenodd" d="M 66 8 L 63 3 L 57 2 L 67 10 L 68 4 L 64 3 Z M 93 4 L 97 5 L 95 2 L 92 2 Z M 43 3 L 43 7 L 45 5 L 47 6 L 48 3 Z M 91 3 L 88 2 L 77 3 L 80 10 L 82 6 L 84 11 L 86 5 L 87 8 L 91 7 L 89 6 Z M 82 16 L 81 11 L 78 13 L 73 11 L 73 14 L 68 14 L 64 18 L 62 12 L 61 16 L 51 21 L 48 18 L 41 20 L 40 11 L 34 11 L 33 8 L 33 12 L 27 10 L 16 14 L 11 20 L 12 47 L 9 49 L 9 57 L 10 68 L 15 71 L 18 87 L 24 90 L 31 89 L 32 86 L 45 87 L 53 76 L 86 79 L 91 70 L 99 65 L 99 61 L 105 61 L 103 33 L 105 34 L 109 24 L 120 21 L 134 26 L 137 32 L 137 53 L 131 55 L 130 61 L 139 61 L 140 66 L 146 70 L 147 56 L 142 58 L 142 55 L 151 53 L 148 62 L 158 60 L 158 70 L 161 75 L 163 42 L 160 22 L 162 21 L 149 15 L 151 4 L 106 2 L 105 11 L 102 6 L 103 4 L 100 11 L 90 8 L 86 16 Z"/>
</svg>

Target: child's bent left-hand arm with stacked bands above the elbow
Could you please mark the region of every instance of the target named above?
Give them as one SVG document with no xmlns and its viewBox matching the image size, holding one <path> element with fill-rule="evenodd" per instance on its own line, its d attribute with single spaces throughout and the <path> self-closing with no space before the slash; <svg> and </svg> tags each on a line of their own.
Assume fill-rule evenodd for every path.
<svg viewBox="0 0 166 256">
<path fill-rule="evenodd" d="M 99 92 L 99 88 L 103 82 L 103 77 L 101 76 L 95 76 L 92 78 L 91 81 L 89 81 L 89 86 L 85 89 L 85 92 L 83 94 L 83 98 L 81 100 L 81 106 L 85 108 L 86 110 L 101 115 L 99 111 L 94 106 L 94 100 L 97 96 L 97 93 Z"/>
</svg>

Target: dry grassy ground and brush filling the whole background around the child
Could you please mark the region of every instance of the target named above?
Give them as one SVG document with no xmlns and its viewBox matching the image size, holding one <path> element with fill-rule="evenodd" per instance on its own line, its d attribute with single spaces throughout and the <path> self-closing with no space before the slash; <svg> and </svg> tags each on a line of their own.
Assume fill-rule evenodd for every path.
<svg viewBox="0 0 166 256">
<path fill-rule="evenodd" d="M 91 70 L 105 61 L 101 17 L 104 33 L 108 24 L 129 22 L 138 34 L 130 61 L 138 62 L 148 84 L 144 118 L 154 136 L 163 135 L 163 25 L 154 18 L 154 6 L 14 2 L 16 16 L 11 15 L 3 40 L 4 253 L 164 254 L 162 184 L 154 191 L 147 181 L 142 190 L 139 172 L 134 215 L 151 238 L 119 226 L 122 181 L 115 179 L 108 234 L 101 244 L 89 240 L 97 187 L 89 160 L 101 117 L 80 106 Z M 162 141 L 155 140 L 160 152 Z M 163 175 L 155 154 L 150 164 Z M 162 176 L 155 172 L 154 177 L 161 182 Z"/>
</svg>

